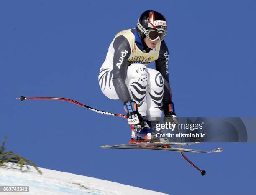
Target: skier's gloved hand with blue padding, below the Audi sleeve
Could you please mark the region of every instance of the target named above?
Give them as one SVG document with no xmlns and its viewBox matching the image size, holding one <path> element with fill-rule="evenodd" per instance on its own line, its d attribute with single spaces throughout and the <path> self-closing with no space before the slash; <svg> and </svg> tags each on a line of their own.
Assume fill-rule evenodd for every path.
<svg viewBox="0 0 256 195">
<path fill-rule="evenodd" d="M 137 104 L 135 101 L 126 101 L 123 105 L 125 112 L 127 113 L 127 121 L 130 125 L 136 125 L 139 128 L 143 127 L 143 118 L 137 110 Z"/>
</svg>

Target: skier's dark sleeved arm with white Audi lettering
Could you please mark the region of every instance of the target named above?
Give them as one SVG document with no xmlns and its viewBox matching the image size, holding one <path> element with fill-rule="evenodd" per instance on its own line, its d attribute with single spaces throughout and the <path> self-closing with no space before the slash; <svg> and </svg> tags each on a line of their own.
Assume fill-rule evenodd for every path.
<svg viewBox="0 0 256 195">
<path fill-rule="evenodd" d="M 124 36 L 118 36 L 113 43 L 115 52 L 113 58 L 113 85 L 119 99 L 123 102 L 131 100 L 128 87 L 125 84 L 127 75 L 127 61 L 131 55 L 131 48 Z"/>
</svg>

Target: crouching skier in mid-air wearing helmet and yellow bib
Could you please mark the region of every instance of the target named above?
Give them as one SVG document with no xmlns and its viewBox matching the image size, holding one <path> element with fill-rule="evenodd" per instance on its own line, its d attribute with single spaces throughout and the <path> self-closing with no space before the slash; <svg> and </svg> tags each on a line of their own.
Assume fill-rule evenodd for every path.
<svg viewBox="0 0 256 195">
<path fill-rule="evenodd" d="M 159 141 L 155 126 L 177 122 L 169 84 L 169 52 L 164 42 L 165 17 L 148 10 L 136 29 L 120 31 L 111 42 L 100 68 L 100 88 L 110 99 L 120 99 L 131 125 L 129 143 Z M 156 70 L 147 68 L 156 62 Z"/>
</svg>

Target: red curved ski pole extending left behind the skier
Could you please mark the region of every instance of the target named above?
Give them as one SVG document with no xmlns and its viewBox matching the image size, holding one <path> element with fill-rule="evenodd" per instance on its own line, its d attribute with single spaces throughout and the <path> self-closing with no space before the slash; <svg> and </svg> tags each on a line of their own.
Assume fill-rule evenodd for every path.
<svg viewBox="0 0 256 195">
<path fill-rule="evenodd" d="M 97 109 L 94 109 L 90 106 L 87 106 L 85 104 L 82 104 L 78 101 L 74 101 L 72 99 L 67 99 L 67 98 L 59 98 L 59 97 L 24 97 L 24 96 L 20 96 L 20 98 L 16 98 L 20 101 L 24 101 L 24 100 L 28 100 L 28 99 L 50 99 L 50 100 L 61 100 L 61 101 L 69 101 L 69 102 L 72 102 L 74 104 L 77 104 L 79 106 L 82 106 L 84 108 L 87 108 L 91 111 L 94 111 L 94 112 L 97 112 L 97 113 L 100 113 L 100 114 L 106 114 L 106 115 L 110 115 L 110 116 L 119 116 L 119 117 L 123 117 L 123 118 L 127 118 L 127 116 L 123 115 L 123 114 L 115 114 L 115 113 L 111 113 L 111 112 L 106 112 L 106 111 L 101 111 L 101 110 L 97 110 Z"/>
</svg>

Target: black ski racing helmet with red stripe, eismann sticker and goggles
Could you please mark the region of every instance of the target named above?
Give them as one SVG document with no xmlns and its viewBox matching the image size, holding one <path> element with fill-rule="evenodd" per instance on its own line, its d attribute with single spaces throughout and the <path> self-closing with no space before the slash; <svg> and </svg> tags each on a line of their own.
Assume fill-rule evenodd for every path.
<svg viewBox="0 0 256 195">
<path fill-rule="evenodd" d="M 167 21 L 161 13 L 147 10 L 138 19 L 136 29 L 142 40 L 147 37 L 151 41 L 157 38 L 162 41 L 167 33 Z"/>
</svg>

